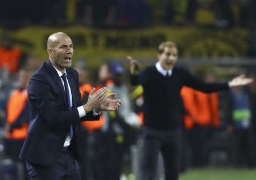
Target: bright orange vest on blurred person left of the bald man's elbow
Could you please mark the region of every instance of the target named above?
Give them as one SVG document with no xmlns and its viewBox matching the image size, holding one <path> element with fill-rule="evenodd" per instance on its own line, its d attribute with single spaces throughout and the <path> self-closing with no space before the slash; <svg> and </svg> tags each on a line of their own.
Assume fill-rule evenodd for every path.
<svg viewBox="0 0 256 180">
<path fill-rule="evenodd" d="M 19 118 L 27 104 L 27 90 L 16 89 L 10 96 L 7 103 L 7 125 L 11 125 Z M 25 139 L 27 136 L 28 123 L 21 127 L 15 127 L 11 132 L 6 133 L 7 139 Z"/>
</svg>

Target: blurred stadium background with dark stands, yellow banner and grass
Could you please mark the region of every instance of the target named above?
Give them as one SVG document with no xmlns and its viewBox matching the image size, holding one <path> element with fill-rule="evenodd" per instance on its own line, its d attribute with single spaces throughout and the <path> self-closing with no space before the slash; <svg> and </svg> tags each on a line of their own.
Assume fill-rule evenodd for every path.
<svg viewBox="0 0 256 180">
<path fill-rule="evenodd" d="M 8 37 L 21 50 L 21 64 L 31 56 L 43 62 L 48 58 L 47 37 L 65 32 L 75 48 L 73 65 L 85 65 L 90 74 L 88 82 L 93 85 L 102 63 L 118 61 L 128 70 L 126 56 L 131 55 L 142 66 L 152 65 L 157 46 L 167 40 L 177 44 L 178 63 L 190 70 L 214 72 L 218 80 L 240 72 L 255 77 L 256 2 L 252 0 L 13 0 L 1 6 L 0 39 Z M 1 142 L 5 137 L 5 102 L 18 85 L 17 72 L 1 68 Z M 224 113 L 220 113 L 219 130 L 225 132 L 225 108 L 221 108 Z M 251 111 L 256 111 L 255 106 Z M 251 128 L 255 142 L 255 122 Z M 0 161 L 7 158 L 4 148 L 2 143 Z M 230 168 L 226 156 L 227 152 L 217 152 L 212 165 L 190 167 L 180 179 L 256 178 L 254 166 Z M 133 179 L 133 156 L 129 158 L 123 173 Z"/>
</svg>

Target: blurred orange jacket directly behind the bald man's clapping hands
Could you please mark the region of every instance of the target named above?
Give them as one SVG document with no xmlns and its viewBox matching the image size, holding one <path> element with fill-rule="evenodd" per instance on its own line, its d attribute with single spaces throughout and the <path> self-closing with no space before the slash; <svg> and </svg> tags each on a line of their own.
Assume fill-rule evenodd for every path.
<svg viewBox="0 0 256 180">
<path fill-rule="evenodd" d="M 90 93 L 93 87 L 90 84 L 83 84 L 80 86 L 79 91 L 81 93 L 81 97 L 84 98 L 85 93 Z M 86 130 L 92 132 L 93 130 L 100 129 L 104 125 L 105 119 L 104 115 L 100 115 L 99 121 L 84 121 L 82 125 L 86 128 Z"/>
</svg>

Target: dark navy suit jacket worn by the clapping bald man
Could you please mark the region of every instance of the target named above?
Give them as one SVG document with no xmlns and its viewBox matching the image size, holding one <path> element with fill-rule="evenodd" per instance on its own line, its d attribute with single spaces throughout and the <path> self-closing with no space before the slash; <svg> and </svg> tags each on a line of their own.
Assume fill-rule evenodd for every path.
<svg viewBox="0 0 256 180">
<path fill-rule="evenodd" d="M 79 160 L 80 143 L 77 125 L 81 121 L 98 120 L 92 112 L 79 118 L 77 107 L 81 105 L 79 75 L 73 68 L 66 68 L 72 92 L 72 109 L 68 109 L 65 91 L 60 77 L 48 60 L 35 72 L 28 84 L 30 125 L 19 158 L 39 165 L 52 165 L 60 155 L 69 127 L 73 125 L 70 148 Z"/>
</svg>

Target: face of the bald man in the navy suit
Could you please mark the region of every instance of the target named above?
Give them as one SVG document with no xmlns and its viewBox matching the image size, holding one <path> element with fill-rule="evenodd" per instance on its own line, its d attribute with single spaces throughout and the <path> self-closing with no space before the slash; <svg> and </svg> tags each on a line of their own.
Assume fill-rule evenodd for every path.
<svg viewBox="0 0 256 180">
<path fill-rule="evenodd" d="M 51 49 L 48 49 L 49 56 L 52 58 L 52 64 L 61 72 L 64 68 L 71 67 L 73 56 L 72 40 L 68 36 L 60 36 L 53 44 Z"/>
</svg>

